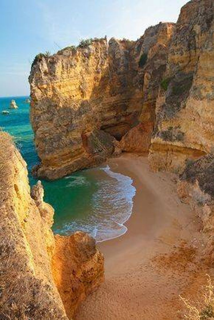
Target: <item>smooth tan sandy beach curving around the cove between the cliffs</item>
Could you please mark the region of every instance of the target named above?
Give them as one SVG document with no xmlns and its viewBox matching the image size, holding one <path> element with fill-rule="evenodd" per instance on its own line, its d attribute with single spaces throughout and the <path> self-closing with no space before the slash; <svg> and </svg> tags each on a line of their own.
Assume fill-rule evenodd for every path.
<svg viewBox="0 0 214 320">
<path fill-rule="evenodd" d="M 179 200 L 176 176 L 151 172 L 146 156 L 124 154 L 108 164 L 133 179 L 133 214 L 123 236 L 98 244 L 106 280 L 75 319 L 183 319 L 179 294 L 194 300 L 206 281 L 200 221 Z"/>
</svg>

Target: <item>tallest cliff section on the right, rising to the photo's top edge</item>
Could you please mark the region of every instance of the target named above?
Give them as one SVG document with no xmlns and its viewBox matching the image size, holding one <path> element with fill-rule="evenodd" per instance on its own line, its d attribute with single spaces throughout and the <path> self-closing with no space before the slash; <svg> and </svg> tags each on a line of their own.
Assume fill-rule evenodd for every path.
<svg viewBox="0 0 214 320">
<path fill-rule="evenodd" d="M 209 153 L 214 143 L 213 12 L 212 0 L 181 9 L 156 101 L 153 170 L 182 172 L 187 158 Z"/>
</svg>

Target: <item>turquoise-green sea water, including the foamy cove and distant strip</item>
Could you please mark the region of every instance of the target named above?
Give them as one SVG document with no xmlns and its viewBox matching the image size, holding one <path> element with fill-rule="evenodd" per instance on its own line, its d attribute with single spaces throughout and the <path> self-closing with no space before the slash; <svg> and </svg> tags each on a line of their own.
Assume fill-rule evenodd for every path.
<svg viewBox="0 0 214 320">
<path fill-rule="evenodd" d="M 28 97 L 0 98 L 0 126 L 14 136 L 27 162 L 30 184 L 37 182 L 31 174 L 39 162 L 29 120 Z M 14 99 L 18 109 L 8 109 Z M 3 115 L 2 111 L 9 111 Z M 123 235 L 123 223 L 132 213 L 135 188 L 132 179 L 112 172 L 108 166 L 75 172 L 55 181 L 42 180 L 45 201 L 55 209 L 53 231 L 69 235 L 76 230 L 90 233 L 98 242 Z"/>
</svg>

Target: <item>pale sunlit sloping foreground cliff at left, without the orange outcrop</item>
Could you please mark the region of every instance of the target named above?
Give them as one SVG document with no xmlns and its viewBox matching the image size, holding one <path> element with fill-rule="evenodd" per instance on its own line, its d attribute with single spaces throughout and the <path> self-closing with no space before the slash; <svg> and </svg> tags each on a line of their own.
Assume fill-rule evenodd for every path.
<svg viewBox="0 0 214 320">
<path fill-rule="evenodd" d="M 67 319 L 53 281 L 53 208 L 30 196 L 26 163 L 0 132 L 1 319 Z"/>
</svg>

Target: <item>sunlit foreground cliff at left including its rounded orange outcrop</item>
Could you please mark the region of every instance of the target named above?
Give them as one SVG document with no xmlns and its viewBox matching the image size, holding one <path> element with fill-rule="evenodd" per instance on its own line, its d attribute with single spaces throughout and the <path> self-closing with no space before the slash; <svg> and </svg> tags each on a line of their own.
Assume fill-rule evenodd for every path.
<svg viewBox="0 0 214 320">
<path fill-rule="evenodd" d="M 41 183 L 30 190 L 26 163 L 7 133 L 0 132 L 0 146 L 0 318 L 68 319 L 86 294 L 103 281 L 103 256 L 94 240 L 77 233 L 62 240 L 73 249 L 66 257 L 62 251 L 58 258 L 59 236 L 55 240 L 51 231 L 54 210 L 43 202 Z M 77 291 L 70 294 L 71 308 L 59 289 L 65 284 L 60 278 L 55 280 L 56 272 L 62 277 L 66 268 L 70 291 Z"/>
</svg>

